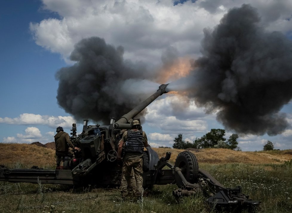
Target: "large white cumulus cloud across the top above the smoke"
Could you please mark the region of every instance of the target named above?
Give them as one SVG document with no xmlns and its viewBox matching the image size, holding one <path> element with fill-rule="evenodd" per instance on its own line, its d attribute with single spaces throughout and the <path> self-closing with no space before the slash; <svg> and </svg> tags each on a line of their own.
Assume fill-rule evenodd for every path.
<svg viewBox="0 0 292 213">
<path fill-rule="evenodd" d="M 291 1 L 198 0 L 42 0 L 43 9 L 59 14 L 30 23 L 36 44 L 67 58 L 82 38 L 99 36 L 125 47 L 126 58 L 157 63 L 168 46 L 182 55 L 199 54 L 202 30 L 214 27 L 232 7 L 251 4 L 271 30 L 290 32 Z"/>
</svg>

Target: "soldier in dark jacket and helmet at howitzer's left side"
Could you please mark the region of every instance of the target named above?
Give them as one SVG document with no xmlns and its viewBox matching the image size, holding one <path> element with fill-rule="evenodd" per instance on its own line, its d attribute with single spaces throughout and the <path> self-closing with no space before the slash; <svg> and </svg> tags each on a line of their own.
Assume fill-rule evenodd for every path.
<svg viewBox="0 0 292 213">
<path fill-rule="evenodd" d="M 80 151 L 80 149 L 78 147 L 74 147 L 70 141 L 68 133 L 64 132 L 63 127 L 57 127 L 56 132 L 57 134 L 54 136 L 56 143 L 56 169 L 62 169 L 62 167 L 60 167 L 62 158 L 73 155 L 73 152 L 69 149 L 69 146 L 77 151 Z"/>
</svg>

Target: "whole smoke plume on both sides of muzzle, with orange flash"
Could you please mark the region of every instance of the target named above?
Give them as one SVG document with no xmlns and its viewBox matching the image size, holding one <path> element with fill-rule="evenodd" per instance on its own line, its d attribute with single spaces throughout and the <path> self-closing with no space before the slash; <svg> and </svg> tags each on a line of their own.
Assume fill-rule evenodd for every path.
<svg viewBox="0 0 292 213">
<path fill-rule="evenodd" d="M 124 60 L 122 47 L 98 37 L 83 39 L 70 55 L 76 64 L 56 74 L 58 103 L 79 121 L 108 124 L 155 92 L 159 84 L 153 81 L 180 78 L 167 90 L 182 91 L 206 112 L 215 112 L 225 128 L 257 135 L 283 132 L 288 122 L 280 110 L 292 98 L 292 41 L 265 31 L 256 9 L 246 4 L 229 10 L 204 35 L 202 57 L 191 68 L 169 47 L 155 72 Z"/>
</svg>

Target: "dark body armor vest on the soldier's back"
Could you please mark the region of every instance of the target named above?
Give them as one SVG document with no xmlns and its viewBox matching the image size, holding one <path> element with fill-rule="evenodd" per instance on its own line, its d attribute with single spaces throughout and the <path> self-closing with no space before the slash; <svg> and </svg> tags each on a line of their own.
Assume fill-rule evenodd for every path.
<svg viewBox="0 0 292 213">
<path fill-rule="evenodd" d="M 143 153 L 143 131 L 140 130 L 139 132 L 132 132 L 131 130 L 128 130 L 127 133 L 125 152 Z"/>
</svg>

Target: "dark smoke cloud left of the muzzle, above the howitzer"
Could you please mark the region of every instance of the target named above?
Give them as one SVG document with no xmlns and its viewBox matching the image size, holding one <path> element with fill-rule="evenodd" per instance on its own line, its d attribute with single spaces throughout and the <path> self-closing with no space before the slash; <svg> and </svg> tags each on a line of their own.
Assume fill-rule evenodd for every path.
<svg viewBox="0 0 292 213">
<path fill-rule="evenodd" d="M 70 55 L 76 63 L 56 73 L 58 104 L 77 121 L 89 118 L 108 124 L 111 117 L 120 118 L 156 92 L 159 84 L 145 80 L 151 78 L 145 64 L 125 61 L 123 53 L 123 47 L 98 37 L 79 41 Z"/>
</svg>

